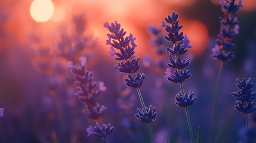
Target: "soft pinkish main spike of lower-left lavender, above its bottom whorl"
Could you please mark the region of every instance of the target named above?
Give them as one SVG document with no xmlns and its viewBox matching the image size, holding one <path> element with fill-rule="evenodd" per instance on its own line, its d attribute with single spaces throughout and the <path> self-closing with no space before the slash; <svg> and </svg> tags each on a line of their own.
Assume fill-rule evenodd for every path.
<svg viewBox="0 0 256 143">
<path fill-rule="evenodd" d="M 106 87 L 104 87 L 103 82 L 93 82 L 93 72 L 86 70 L 87 60 L 85 57 L 80 57 L 79 61 L 80 64 L 75 65 L 71 61 L 68 63 L 68 69 L 73 74 L 75 84 L 78 85 L 75 95 L 86 105 L 82 112 L 91 119 L 100 121 L 104 116 L 106 107 L 100 106 L 97 98 L 101 91 L 106 90 Z"/>
</svg>

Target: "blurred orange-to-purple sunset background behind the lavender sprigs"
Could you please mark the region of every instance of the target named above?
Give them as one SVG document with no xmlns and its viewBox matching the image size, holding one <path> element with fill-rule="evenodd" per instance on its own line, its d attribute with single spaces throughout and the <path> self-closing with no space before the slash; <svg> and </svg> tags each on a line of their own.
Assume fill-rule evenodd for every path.
<svg viewBox="0 0 256 143">
<path fill-rule="evenodd" d="M 218 142 L 243 140 L 245 117 L 235 111 L 231 92 L 238 90 L 238 77 L 256 82 L 256 3 L 242 4 L 239 35 L 233 39 L 236 58 L 224 63 L 220 81 Z M 161 29 L 161 21 L 172 11 L 180 15 L 182 31 L 192 45 L 186 54 L 192 77 L 184 88 L 198 97 L 189 107 L 193 130 L 196 134 L 201 126 L 202 142 L 208 142 L 220 66 L 211 57 L 223 16 L 218 0 L 0 0 L 0 107 L 4 108 L 0 142 L 101 142 L 87 137 L 86 129 L 95 123 L 82 113 L 84 105 L 74 96 L 75 85 L 67 70 L 67 61 L 76 63 L 81 56 L 87 57 L 94 80 L 107 87 L 98 102 L 107 107 L 104 123 L 115 126 L 109 142 L 150 141 L 146 125 L 134 116 L 140 107 L 137 93 L 125 86 L 127 75 L 114 68 L 116 61 L 109 55 L 106 21 L 118 21 L 137 38 L 139 72 L 146 74 L 141 92 L 146 105 L 158 111 L 158 121 L 151 124 L 156 142 L 190 142 L 184 109 L 174 104 L 180 87 L 164 77 L 166 46 L 156 44 L 158 37 L 150 30 Z M 249 125 L 255 124 L 255 113 L 249 114 Z"/>
</svg>

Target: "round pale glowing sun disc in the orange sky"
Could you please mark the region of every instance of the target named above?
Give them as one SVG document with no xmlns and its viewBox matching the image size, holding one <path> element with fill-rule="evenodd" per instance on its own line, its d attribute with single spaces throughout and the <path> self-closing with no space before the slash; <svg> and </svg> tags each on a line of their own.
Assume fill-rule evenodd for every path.
<svg viewBox="0 0 256 143">
<path fill-rule="evenodd" d="M 53 15 L 54 5 L 51 0 L 35 0 L 30 6 L 30 14 L 35 21 L 48 21 Z"/>
</svg>

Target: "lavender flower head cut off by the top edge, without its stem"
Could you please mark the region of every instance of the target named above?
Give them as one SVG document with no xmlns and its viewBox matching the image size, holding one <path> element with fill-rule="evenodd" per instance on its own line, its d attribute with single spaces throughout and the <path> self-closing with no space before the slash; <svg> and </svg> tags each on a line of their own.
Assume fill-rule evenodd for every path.
<svg viewBox="0 0 256 143">
<path fill-rule="evenodd" d="M 236 47 L 236 44 L 231 41 L 239 33 L 236 13 L 243 5 L 241 0 L 239 0 L 238 4 L 235 4 L 235 0 L 226 0 L 226 2 L 221 0 L 220 5 L 224 17 L 220 17 L 220 33 L 216 39 L 217 44 L 212 48 L 212 57 L 215 60 L 230 61 L 235 58 L 233 50 Z"/>
</svg>

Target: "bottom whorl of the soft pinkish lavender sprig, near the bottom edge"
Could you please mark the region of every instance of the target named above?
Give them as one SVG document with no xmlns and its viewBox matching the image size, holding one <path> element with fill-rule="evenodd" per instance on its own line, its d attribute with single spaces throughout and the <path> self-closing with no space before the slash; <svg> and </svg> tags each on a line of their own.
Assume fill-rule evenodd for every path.
<svg viewBox="0 0 256 143">
<path fill-rule="evenodd" d="M 107 136 L 109 136 L 110 133 L 112 133 L 114 130 L 115 130 L 115 128 L 113 126 L 111 126 L 110 124 L 108 124 L 108 125 L 103 124 L 101 126 L 99 122 L 96 122 L 96 125 L 94 127 L 89 126 L 87 128 L 87 132 L 88 132 L 87 136 L 95 135 L 95 136 L 101 137 L 105 140 L 107 138 Z"/>
</svg>

